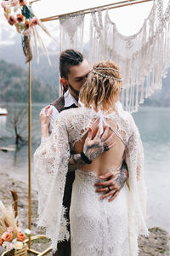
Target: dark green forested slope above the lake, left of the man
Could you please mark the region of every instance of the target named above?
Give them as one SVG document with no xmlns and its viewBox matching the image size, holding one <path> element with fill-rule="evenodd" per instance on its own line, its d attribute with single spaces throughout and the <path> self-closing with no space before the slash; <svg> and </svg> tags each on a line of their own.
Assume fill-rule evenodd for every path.
<svg viewBox="0 0 170 256">
<path fill-rule="evenodd" d="M 0 88 L 0 102 L 27 102 L 28 73 L 15 64 L 0 61 Z M 31 79 L 32 102 L 53 102 L 57 97 L 57 88 Z"/>
</svg>

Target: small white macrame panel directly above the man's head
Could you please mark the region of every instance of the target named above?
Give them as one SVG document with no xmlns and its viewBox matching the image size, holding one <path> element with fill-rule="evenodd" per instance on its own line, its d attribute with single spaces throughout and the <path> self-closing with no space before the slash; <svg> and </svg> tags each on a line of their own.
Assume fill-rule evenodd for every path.
<svg viewBox="0 0 170 256">
<path fill-rule="evenodd" d="M 64 49 L 78 49 L 82 51 L 84 14 L 61 17 L 60 26 L 60 52 Z"/>
</svg>

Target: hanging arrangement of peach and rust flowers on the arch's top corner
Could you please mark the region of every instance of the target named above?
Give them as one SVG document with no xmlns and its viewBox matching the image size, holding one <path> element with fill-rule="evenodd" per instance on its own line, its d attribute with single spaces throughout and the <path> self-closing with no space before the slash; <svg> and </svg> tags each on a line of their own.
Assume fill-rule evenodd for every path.
<svg viewBox="0 0 170 256">
<path fill-rule="evenodd" d="M 47 28 L 43 26 L 41 20 L 38 20 L 30 6 L 27 5 L 26 0 L 5 0 L 2 1 L 1 6 L 4 10 L 4 16 L 8 20 L 8 24 L 15 26 L 17 32 L 22 35 L 22 48 L 26 55 L 26 63 L 32 60 L 31 37 L 34 38 L 36 47 L 37 62 L 39 61 L 38 44 L 41 45 L 42 50 L 48 57 L 48 49 L 37 32 L 37 26 L 40 26 L 50 38 L 54 37 L 48 32 Z M 54 39 L 54 41 L 56 41 Z M 49 64 L 51 63 L 48 57 Z"/>
</svg>

